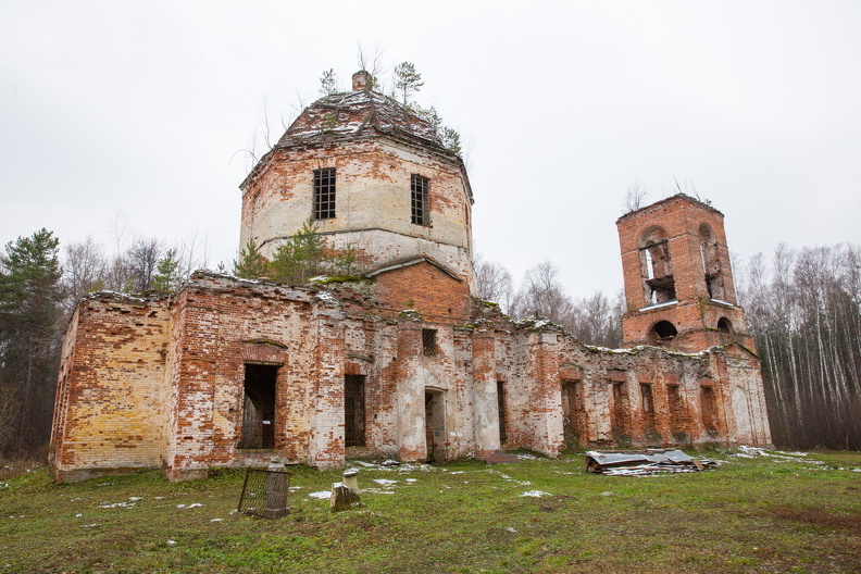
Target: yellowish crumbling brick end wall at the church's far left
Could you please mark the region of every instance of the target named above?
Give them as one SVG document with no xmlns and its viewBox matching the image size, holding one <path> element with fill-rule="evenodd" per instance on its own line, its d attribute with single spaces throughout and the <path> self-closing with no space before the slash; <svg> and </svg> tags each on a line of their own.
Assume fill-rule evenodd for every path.
<svg viewBox="0 0 861 574">
<path fill-rule="evenodd" d="M 51 462 L 66 479 L 161 462 L 166 410 L 164 299 L 96 295 L 63 344 Z"/>
</svg>

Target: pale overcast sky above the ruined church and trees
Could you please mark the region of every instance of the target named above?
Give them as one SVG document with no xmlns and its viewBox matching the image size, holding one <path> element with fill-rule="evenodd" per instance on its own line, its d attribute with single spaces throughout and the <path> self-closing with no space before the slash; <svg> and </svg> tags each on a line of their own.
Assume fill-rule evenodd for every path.
<svg viewBox="0 0 861 574">
<path fill-rule="evenodd" d="M 419 103 L 461 132 L 477 250 L 515 278 L 548 258 L 573 296 L 621 289 L 635 182 L 696 188 L 741 258 L 857 244 L 859 30 L 849 0 L 0 0 L 0 241 L 110 249 L 120 215 L 229 261 L 237 151 L 324 70 L 349 89 L 361 42 L 414 62 Z"/>
</svg>

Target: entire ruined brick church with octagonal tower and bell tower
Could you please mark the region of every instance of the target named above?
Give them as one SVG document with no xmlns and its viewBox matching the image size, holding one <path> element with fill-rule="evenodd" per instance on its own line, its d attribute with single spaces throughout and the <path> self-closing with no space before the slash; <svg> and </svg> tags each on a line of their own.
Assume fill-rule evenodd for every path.
<svg viewBox="0 0 861 574">
<path fill-rule="evenodd" d="M 473 297 L 463 162 L 369 80 L 305 109 L 241 185 L 241 245 L 272 254 L 310 216 L 361 254 L 361 279 L 203 271 L 170 297 L 85 298 L 62 351 L 58 479 L 771 442 L 719 211 L 678 195 L 616 222 L 624 349 L 513 321 Z"/>
</svg>

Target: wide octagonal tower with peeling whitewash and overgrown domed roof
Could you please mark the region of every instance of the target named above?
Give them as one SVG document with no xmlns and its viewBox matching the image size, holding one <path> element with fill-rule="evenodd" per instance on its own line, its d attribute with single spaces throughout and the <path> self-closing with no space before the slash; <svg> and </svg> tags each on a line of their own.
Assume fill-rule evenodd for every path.
<svg viewBox="0 0 861 574">
<path fill-rule="evenodd" d="M 429 260 L 473 290 L 472 190 L 463 161 L 411 110 L 353 74 L 290 125 L 240 188 L 240 245 L 264 255 L 310 219 L 362 271 Z"/>
</svg>

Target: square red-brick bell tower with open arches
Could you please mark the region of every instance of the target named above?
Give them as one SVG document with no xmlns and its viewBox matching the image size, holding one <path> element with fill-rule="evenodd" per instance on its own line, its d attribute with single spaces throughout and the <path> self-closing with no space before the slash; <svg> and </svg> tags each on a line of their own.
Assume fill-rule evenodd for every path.
<svg viewBox="0 0 861 574">
<path fill-rule="evenodd" d="M 625 347 L 754 351 L 738 307 L 723 213 L 684 194 L 616 221 L 627 312 Z"/>
</svg>

